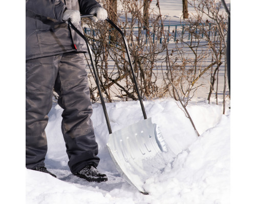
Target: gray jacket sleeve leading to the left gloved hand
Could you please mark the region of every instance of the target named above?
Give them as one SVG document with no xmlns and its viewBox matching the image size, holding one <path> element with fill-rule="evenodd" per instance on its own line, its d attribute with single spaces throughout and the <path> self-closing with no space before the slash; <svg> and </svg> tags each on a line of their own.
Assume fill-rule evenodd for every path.
<svg viewBox="0 0 256 204">
<path fill-rule="evenodd" d="M 26 0 L 26 9 L 36 14 L 62 20 L 66 5 L 60 0 Z"/>
</svg>

